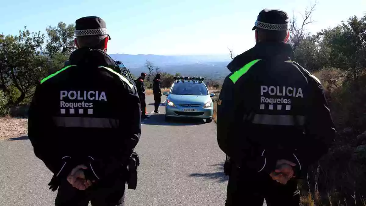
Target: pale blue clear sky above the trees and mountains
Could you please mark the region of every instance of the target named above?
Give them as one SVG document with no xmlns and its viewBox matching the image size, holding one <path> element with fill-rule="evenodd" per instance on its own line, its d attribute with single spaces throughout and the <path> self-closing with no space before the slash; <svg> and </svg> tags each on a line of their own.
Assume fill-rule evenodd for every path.
<svg viewBox="0 0 366 206">
<path fill-rule="evenodd" d="M 37 2 L 37 3 L 35 3 Z M 279 8 L 292 16 L 310 0 L 17 0 L 1 3 L 0 32 L 17 34 L 27 26 L 45 33 L 57 22 L 74 23 L 82 16 L 100 16 L 112 37 L 108 53 L 127 54 L 239 54 L 255 44 L 251 30 L 263 8 Z M 175 1 L 177 2 L 177 1 Z M 348 17 L 361 17 L 366 0 L 318 0 L 309 32 L 335 26 Z M 301 16 L 300 16 L 301 18 Z"/>
</svg>

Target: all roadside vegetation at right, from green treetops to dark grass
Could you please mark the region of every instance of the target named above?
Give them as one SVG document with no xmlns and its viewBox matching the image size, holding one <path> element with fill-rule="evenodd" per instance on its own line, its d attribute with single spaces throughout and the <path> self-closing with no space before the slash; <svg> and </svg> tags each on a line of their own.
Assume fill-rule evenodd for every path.
<svg viewBox="0 0 366 206">
<path fill-rule="evenodd" d="M 322 81 L 337 129 L 332 148 L 301 185 L 304 201 L 365 206 L 366 15 L 306 34 L 295 44 L 295 60 Z"/>
</svg>

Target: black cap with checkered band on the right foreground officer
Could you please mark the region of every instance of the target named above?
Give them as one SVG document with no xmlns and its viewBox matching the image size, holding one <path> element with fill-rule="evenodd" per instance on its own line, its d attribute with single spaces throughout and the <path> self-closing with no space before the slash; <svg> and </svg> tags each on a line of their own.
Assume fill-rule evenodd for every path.
<svg viewBox="0 0 366 206">
<path fill-rule="evenodd" d="M 278 9 L 264 9 L 259 12 L 252 30 L 258 28 L 283 31 L 288 29 L 289 18 L 286 12 Z"/>
</svg>

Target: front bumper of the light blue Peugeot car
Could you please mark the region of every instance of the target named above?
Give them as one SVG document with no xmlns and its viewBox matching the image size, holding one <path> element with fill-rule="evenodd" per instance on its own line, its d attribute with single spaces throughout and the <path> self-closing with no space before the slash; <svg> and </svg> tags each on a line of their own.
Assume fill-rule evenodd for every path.
<svg viewBox="0 0 366 206">
<path fill-rule="evenodd" d="M 180 118 L 197 118 L 197 119 L 208 119 L 212 118 L 213 107 L 202 108 L 201 107 L 190 107 L 196 109 L 196 111 L 183 111 L 183 108 L 187 107 L 165 107 L 165 115 L 167 117 L 180 117 Z"/>
</svg>

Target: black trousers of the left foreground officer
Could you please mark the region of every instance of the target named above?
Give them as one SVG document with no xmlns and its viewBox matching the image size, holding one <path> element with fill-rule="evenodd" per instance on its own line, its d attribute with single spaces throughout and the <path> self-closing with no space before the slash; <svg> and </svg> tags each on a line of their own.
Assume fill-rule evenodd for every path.
<svg viewBox="0 0 366 206">
<path fill-rule="evenodd" d="M 78 190 L 67 180 L 61 181 L 55 205 L 56 206 L 124 206 L 124 190 L 126 178 L 117 176 L 105 180 L 98 185 L 91 185 L 86 190 Z"/>
</svg>

